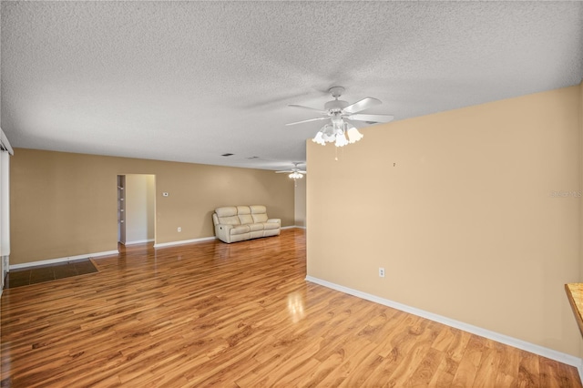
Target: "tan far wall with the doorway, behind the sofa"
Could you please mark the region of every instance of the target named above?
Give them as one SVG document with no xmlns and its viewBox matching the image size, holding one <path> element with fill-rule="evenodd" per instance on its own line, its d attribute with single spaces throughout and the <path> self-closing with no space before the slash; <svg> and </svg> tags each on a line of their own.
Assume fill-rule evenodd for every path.
<svg viewBox="0 0 583 388">
<path fill-rule="evenodd" d="M 11 161 L 11 264 L 117 250 L 118 174 L 156 175 L 157 243 L 213 236 L 219 206 L 294 222 L 293 182 L 273 171 L 24 148 Z"/>
</svg>

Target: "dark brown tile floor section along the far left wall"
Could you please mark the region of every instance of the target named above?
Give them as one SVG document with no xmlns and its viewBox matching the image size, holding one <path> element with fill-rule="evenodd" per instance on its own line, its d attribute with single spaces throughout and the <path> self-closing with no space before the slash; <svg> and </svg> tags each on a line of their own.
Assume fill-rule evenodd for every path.
<svg viewBox="0 0 583 388">
<path fill-rule="evenodd" d="M 42 283 L 45 281 L 56 281 L 57 279 L 69 278 L 71 276 L 84 275 L 86 273 L 97 272 L 97 268 L 91 260 L 75 260 L 63 264 L 51 264 L 27 268 L 23 270 L 12 270 L 6 275 L 5 288 L 27 286 L 29 284 Z"/>
</svg>

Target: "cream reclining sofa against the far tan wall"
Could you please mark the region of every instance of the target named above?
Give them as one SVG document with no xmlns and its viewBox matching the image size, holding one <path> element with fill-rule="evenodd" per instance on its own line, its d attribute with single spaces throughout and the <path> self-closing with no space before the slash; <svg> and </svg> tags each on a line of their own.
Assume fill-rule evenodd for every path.
<svg viewBox="0 0 583 388">
<path fill-rule="evenodd" d="M 217 238 L 228 243 L 278 236 L 281 231 L 281 220 L 268 218 L 262 205 L 217 208 L 212 221 Z"/>
</svg>

